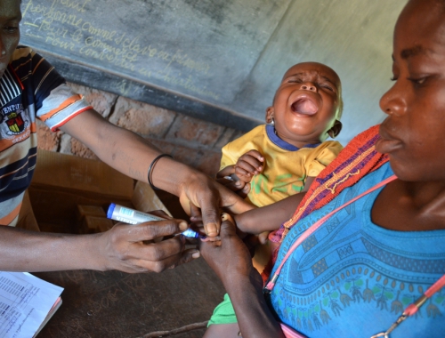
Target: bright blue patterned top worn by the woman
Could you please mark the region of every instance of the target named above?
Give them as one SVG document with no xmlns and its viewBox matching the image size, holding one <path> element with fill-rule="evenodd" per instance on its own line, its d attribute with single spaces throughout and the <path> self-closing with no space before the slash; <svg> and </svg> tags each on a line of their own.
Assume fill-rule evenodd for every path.
<svg viewBox="0 0 445 338">
<path fill-rule="evenodd" d="M 382 165 L 295 224 L 275 269 L 312 223 L 391 175 L 389 163 Z M 370 215 L 380 191 L 333 215 L 289 257 L 271 293 L 273 310 L 287 326 L 308 337 L 370 337 L 386 331 L 445 274 L 445 230 L 402 232 L 376 226 Z M 444 337 L 444 314 L 442 290 L 391 338 Z"/>
</svg>

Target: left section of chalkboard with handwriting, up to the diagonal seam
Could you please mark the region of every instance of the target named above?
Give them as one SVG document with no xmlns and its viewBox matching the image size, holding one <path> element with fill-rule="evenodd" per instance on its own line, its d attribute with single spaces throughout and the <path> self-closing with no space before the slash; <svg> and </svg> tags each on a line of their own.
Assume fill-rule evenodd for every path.
<svg viewBox="0 0 445 338">
<path fill-rule="evenodd" d="M 20 42 L 68 60 L 73 69 L 55 63 L 69 80 L 236 117 L 231 102 L 289 1 L 24 0 Z"/>
</svg>

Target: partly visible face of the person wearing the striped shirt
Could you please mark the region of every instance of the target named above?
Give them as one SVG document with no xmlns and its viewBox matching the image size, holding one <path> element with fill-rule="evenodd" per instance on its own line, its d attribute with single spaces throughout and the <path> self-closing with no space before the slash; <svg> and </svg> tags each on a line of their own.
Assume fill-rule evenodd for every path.
<svg viewBox="0 0 445 338">
<path fill-rule="evenodd" d="M 8 67 L 12 52 L 19 44 L 20 0 L 0 1 L 0 77 Z"/>
</svg>

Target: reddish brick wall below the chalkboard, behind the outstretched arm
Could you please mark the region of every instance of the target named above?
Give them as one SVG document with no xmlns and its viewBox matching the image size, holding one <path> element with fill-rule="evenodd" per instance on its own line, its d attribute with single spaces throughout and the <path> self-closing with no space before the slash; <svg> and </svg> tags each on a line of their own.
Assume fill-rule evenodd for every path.
<svg viewBox="0 0 445 338">
<path fill-rule="evenodd" d="M 149 140 L 162 152 L 214 176 L 219 169 L 221 148 L 238 138 L 242 132 L 214 125 L 197 118 L 132 101 L 112 93 L 82 85 L 69 84 L 77 93 L 85 95 L 93 108 L 114 125 L 124 127 Z M 68 134 L 52 133 L 37 121 L 38 148 L 97 158 L 84 144 Z"/>
</svg>

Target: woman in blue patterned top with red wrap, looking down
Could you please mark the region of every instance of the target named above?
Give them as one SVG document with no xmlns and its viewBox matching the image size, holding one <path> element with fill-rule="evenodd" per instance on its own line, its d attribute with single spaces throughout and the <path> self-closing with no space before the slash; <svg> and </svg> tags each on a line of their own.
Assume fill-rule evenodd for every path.
<svg viewBox="0 0 445 338">
<path fill-rule="evenodd" d="M 206 336 L 384 336 L 402 313 L 392 338 L 443 336 L 445 1 L 409 1 L 392 59 L 384 123 L 320 173 L 279 229 L 266 296 L 230 221 L 221 245 L 201 244 L 239 323 Z"/>
</svg>

